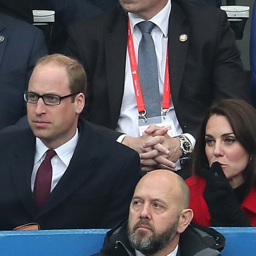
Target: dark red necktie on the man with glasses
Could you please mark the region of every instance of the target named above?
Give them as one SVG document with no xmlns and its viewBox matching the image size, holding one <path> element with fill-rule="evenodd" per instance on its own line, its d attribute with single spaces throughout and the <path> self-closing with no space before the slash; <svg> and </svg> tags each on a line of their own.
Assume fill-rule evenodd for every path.
<svg viewBox="0 0 256 256">
<path fill-rule="evenodd" d="M 51 159 L 56 155 L 53 150 L 48 150 L 46 156 L 41 165 L 38 168 L 38 172 L 34 184 L 34 199 L 38 209 L 40 209 L 46 202 L 51 192 L 53 168 Z"/>
</svg>

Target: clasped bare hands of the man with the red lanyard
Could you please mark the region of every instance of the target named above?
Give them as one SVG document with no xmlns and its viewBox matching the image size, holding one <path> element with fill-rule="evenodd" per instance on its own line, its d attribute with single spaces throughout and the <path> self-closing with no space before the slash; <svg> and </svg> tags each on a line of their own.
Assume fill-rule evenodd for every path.
<svg viewBox="0 0 256 256">
<path fill-rule="evenodd" d="M 136 150 L 140 156 L 143 171 L 176 168 L 175 162 L 182 156 L 180 142 L 170 137 L 168 129 L 151 124 L 143 136 L 126 136 L 122 143 Z"/>
</svg>

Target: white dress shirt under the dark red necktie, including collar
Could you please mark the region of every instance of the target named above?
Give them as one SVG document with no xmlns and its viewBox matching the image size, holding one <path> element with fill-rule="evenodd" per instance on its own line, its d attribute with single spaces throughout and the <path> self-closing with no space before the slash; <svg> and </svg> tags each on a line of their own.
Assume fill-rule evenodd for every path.
<svg viewBox="0 0 256 256">
<path fill-rule="evenodd" d="M 73 136 L 72 139 L 70 139 L 68 142 L 64 143 L 60 147 L 54 149 L 56 155 L 51 160 L 53 167 L 51 192 L 53 191 L 53 188 L 55 188 L 56 184 L 60 181 L 65 171 L 68 169 L 68 165 L 74 154 L 77 142 L 78 129 L 76 129 L 75 136 Z M 32 192 L 34 192 L 34 183 L 38 168 L 41 165 L 41 162 L 45 159 L 47 150 L 49 150 L 49 148 L 45 146 L 41 139 L 36 138 L 36 154 L 34 159 L 34 168 L 31 175 Z"/>
</svg>

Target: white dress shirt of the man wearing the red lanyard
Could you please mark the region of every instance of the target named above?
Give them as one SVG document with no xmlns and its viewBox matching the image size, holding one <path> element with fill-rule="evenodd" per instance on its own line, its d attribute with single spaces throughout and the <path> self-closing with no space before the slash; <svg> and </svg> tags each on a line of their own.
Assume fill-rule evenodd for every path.
<svg viewBox="0 0 256 256">
<path fill-rule="evenodd" d="M 169 29 L 169 15 L 171 12 L 171 0 L 168 1 L 166 6 L 158 12 L 150 21 L 157 26 L 155 26 L 151 32 L 151 36 L 154 41 L 156 56 L 157 56 L 157 65 L 158 65 L 158 79 L 159 79 L 159 93 L 160 101 L 162 105 L 163 90 L 164 90 L 164 79 L 165 79 L 165 70 L 166 70 L 166 52 L 168 44 L 168 29 Z M 131 32 L 134 43 L 134 50 L 136 58 L 138 56 L 139 41 L 142 38 L 142 33 L 139 30 L 136 24 L 144 21 L 144 19 L 139 18 L 138 15 L 128 12 L 129 20 L 131 22 Z M 168 19 L 166 19 L 168 17 Z M 172 78 L 170 77 L 170 86 L 172 86 Z M 173 120 L 177 135 L 183 133 L 181 125 L 177 120 L 175 109 L 173 107 L 173 101 L 170 100 L 170 108 L 167 115 Z M 124 95 L 121 105 L 120 117 L 117 123 L 116 130 L 118 132 L 123 132 L 132 137 L 139 136 L 139 127 L 138 127 L 138 109 L 134 93 L 133 80 L 132 80 L 132 71 L 130 58 L 128 54 L 128 49 L 126 53 L 126 63 L 125 63 L 125 78 L 124 78 Z M 188 139 L 194 143 L 195 139 L 191 134 L 185 134 Z M 117 139 L 118 142 L 124 136 Z"/>
</svg>

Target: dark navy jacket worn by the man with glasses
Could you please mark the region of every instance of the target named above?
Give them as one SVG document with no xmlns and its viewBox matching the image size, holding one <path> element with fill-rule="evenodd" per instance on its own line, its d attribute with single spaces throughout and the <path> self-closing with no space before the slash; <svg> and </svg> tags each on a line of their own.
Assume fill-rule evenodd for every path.
<svg viewBox="0 0 256 256">
<path fill-rule="evenodd" d="M 78 129 L 68 169 L 40 210 L 31 192 L 33 132 L 0 132 L 0 230 L 30 222 L 41 229 L 110 228 L 128 217 L 140 177 L 139 155 L 86 120 Z"/>
</svg>

